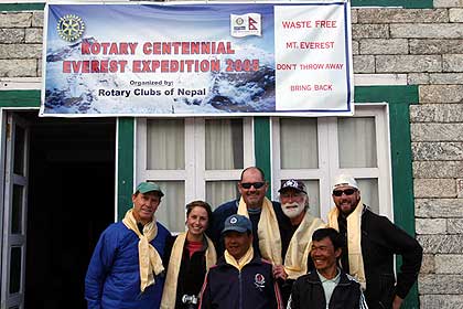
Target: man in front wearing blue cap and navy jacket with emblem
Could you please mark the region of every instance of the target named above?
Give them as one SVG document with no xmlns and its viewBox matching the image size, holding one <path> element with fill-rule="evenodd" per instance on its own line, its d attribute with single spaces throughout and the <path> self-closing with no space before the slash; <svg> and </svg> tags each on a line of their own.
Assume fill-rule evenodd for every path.
<svg viewBox="0 0 463 309">
<path fill-rule="evenodd" d="M 280 309 L 272 265 L 255 254 L 252 225 L 244 215 L 226 219 L 223 230 L 225 253 L 206 275 L 201 309 Z"/>
</svg>

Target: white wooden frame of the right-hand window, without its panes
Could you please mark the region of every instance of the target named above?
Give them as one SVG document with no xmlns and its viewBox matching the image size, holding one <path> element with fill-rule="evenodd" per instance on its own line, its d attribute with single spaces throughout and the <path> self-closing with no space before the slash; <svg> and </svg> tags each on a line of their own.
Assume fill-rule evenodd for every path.
<svg viewBox="0 0 463 309">
<path fill-rule="evenodd" d="M 348 173 L 356 179 L 377 179 L 379 213 L 394 221 L 394 205 L 391 192 L 391 168 L 390 168 L 390 139 L 388 126 L 388 105 L 362 104 L 356 106 L 355 116 L 374 117 L 376 127 L 376 168 L 340 168 L 338 140 L 337 140 L 337 119 L 347 117 L 319 117 L 317 118 L 317 169 L 281 169 L 280 151 L 280 119 L 283 117 L 271 118 L 272 135 L 272 199 L 278 199 L 278 189 L 281 180 L 302 179 L 319 181 L 320 215 L 326 220 L 330 209 L 333 206 L 331 198 L 331 181 L 340 173 Z"/>
</svg>

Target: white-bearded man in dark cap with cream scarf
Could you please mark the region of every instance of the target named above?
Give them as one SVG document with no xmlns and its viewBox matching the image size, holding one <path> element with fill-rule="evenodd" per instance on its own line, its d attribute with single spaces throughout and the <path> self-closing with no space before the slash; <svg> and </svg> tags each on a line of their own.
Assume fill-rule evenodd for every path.
<svg viewBox="0 0 463 309">
<path fill-rule="evenodd" d="M 291 225 L 281 231 L 283 265 L 274 265 L 273 276 L 279 279 L 283 301 L 287 302 L 295 279 L 313 269 L 310 255 L 312 234 L 325 227 L 325 223 L 314 217 L 309 210 L 305 184 L 290 179 L 282 182 L 280 190 L 281 210 Z"/>
</svg>

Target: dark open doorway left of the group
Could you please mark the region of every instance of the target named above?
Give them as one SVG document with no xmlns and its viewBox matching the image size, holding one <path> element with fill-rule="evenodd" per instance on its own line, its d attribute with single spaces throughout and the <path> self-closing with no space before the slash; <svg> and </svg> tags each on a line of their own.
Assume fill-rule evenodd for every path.
<svg viewBox="0 0 463 309">
<path fill-rule="evenodd" d="M 17 114 L 31 132 L 24 308 L 85 309 L 89 258 L 115 221 L 116 120 Z"/>
</svg>

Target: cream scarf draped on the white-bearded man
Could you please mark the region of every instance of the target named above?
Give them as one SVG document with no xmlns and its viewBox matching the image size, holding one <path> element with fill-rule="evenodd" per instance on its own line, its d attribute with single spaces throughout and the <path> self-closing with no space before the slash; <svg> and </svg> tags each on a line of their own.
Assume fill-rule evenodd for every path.
<svg viewBox="0 0 463 309">
<path fill-rule="evenodd" d="M 325 227 L 325 223 L 312 216 L 309 212 L 291 237 L 284 257 L 284 270 L 289 279 L 297 279 L 308 273 L 308 258 L 312 247 L 312 234 L 317 228 Z"/>
</svg>

